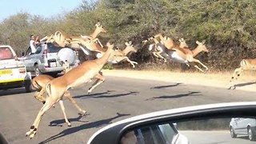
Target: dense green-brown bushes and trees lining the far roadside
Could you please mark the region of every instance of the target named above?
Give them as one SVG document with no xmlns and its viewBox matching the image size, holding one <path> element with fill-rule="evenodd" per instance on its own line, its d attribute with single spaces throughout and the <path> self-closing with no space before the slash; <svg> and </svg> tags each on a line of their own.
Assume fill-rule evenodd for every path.
<svg viewBox="0 0 256 144">
<path fill-rule="evenodd" d="M 191 48 L 206 39 L 210 52 L 198 54 L 213 71 L 234 70 L 242 58 L 256 58 L 256 1 L 219 0 L 98 0 L 83 1 L 77 9 L 54 18 L 19 13 L 0 23 L 0 43 L 13 46 L 20 54 L 29 46 L 30 34 L 90 34 L 98 21 L 107 33 L 98 37 L 102 43 L 114 39 L 118 47 L 133 41 L 137 54 L 130 58 L 138 68 L 181 67 L 173 62 L 160 62 L 147 50 L 142 40 L 154 34 L 185 38 Z M 126 68 L 129 64 L 118 67 Z M 130 67 L 130 66 L 129 66 Z"/>
</svg>

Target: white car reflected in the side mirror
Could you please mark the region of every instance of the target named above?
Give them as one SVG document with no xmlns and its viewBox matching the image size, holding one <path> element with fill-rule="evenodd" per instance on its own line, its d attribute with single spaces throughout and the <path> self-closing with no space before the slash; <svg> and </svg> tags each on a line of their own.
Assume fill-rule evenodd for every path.
<svg viewBox="0 0 256 144">
<path fill-rule="evenodd" d="M 230 135 L 232 138 L 236 138 L 238 134 L 248 135 L 250 141 L 256 140 L 256 119 L 231 118 Z"/>
</svg>

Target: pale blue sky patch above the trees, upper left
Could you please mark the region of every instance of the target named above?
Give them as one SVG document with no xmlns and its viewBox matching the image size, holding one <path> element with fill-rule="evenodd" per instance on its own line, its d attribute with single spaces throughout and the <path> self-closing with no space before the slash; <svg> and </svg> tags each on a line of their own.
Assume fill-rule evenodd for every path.
<svg viewBox="0 0 256 144">
<path fill-rule="evenodd" d="M 19 12 L 50 18 L 74 10 L 80 4 L 82 0 L 0 0 L 0 22 Z"/>
</svg>

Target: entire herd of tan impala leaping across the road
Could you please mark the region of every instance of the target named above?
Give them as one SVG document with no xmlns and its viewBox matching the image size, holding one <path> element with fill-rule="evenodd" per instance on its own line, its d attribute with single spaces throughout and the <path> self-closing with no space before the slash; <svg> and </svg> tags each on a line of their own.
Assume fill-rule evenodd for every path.
<svg viewBox="0 0 256 144">
<path fill-rule="evenodd" d="M 62 108 L 62 113 L 64 114 L 67 125 L 71 126 L 66 118 L 65 108 L 62 102 L 63 98 L 68 98 L 82 114 L 86 114 L 86 110 L 82 110 L 71 97 L 69 90 L 82 86 L 95 78 L 95 82 L 88 90 L 88 93 L 90 93 L 96 86 L 105 81 L 101 70 L 106 63 L 114 64 L 127 61 L 130 62 L 133 67 L 135 67 L 134 64 L 138 64 L 127 57 L 127 54 L 130 52 L 137 52 L 137 49 L 132 45 L 132 42 L 126 42 L 126 47 L 122 50 L 119 48 L 117 49 L 113 42 L 107 42 L 106 47 L 104 47 L 97 36 L 100 33 L 106 33 L 106 30 L 104 30 L 100 22 L 97 22 L 95 26 L 96 29 L 89 36 L 80 35 L 74 37 L 57 31 L 55 34 L 43 38 L 46 42 L 53 42 L 58 46 L 71 46 L 73 48 L 81 49 L 86 55 L 94 56 L 94 59 L 82 62 L 81 65 L 74 68 L 70 68 L 68 62 L 63 62 L 62 66 L 65 69 L 65 74 L 58 78 L 53 78 L 46 74 L 33 78 L 32 86 L 34 86 L 36 90 L 34 97 L 42 102 L 43 106 L 41 110 L 39 110 L 33 125 L 30 126 L 30 130 L 26 132 L 26 136 L 34 138 L 34 135 L 38 130 L 39 122 L 42 119 L 42 115 L 45 114 L 50 107 L 54 106 L 56 102 L 59 102 Z M 179 39 L 180 44 L 178 46 L 174 43 L 174 40 L 163 36 L 162 34 L 156 34 L 142 41 L 143 44 L 147 42 L 150 42 L 149 50 L 156 58 L 162 58 L 165 62 L 171 60 L 173 62 L 185 63 L 187 66 L 194 66 L 203 73 L 208 70 L 207 66 L 194 58 L 202 51 L 208 52 L 205 46 L 205 40 L 202 42 L 197 41 L 196 43 L 198 46 L 195 47 L 194 50 L 190 50 L 183 38 Z M 202 70 L 197 64 L 204 67 L 205 70 Z M 237 79 L 242 70 L 256 70 L 256 59 L 242 59 L 240 67 L 234 70 L 231 81 Z"/>
</svg>

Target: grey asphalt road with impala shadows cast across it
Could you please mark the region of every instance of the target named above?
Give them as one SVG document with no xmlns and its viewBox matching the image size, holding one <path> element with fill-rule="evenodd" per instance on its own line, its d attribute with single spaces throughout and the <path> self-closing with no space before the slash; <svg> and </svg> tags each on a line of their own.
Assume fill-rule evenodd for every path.
<svg viewBox="0 0 256 144">
<path fill-rule="evenodd" d="M 81 117 L 74 106 L 65 101 L 66 114 L 72 124 L 68 127 L 56 104 L 55 108 L 43 116 L 38 134 L 32 140 L 26 138 L 25 134 L 42 104 L 34 99 L 34 93 L 26 94 L 20 89 L 0 91 L 0 131 L 12 144 L 85 143 L 103 126 L 137 114 L 182 106 L 256 99 L 253 92 L 130 78 L 108 77 L 94 93 L 86 94 L 89 86 L 71 90 L 78 105 L 85 108 L 89 115 Z"/>
</svg>

